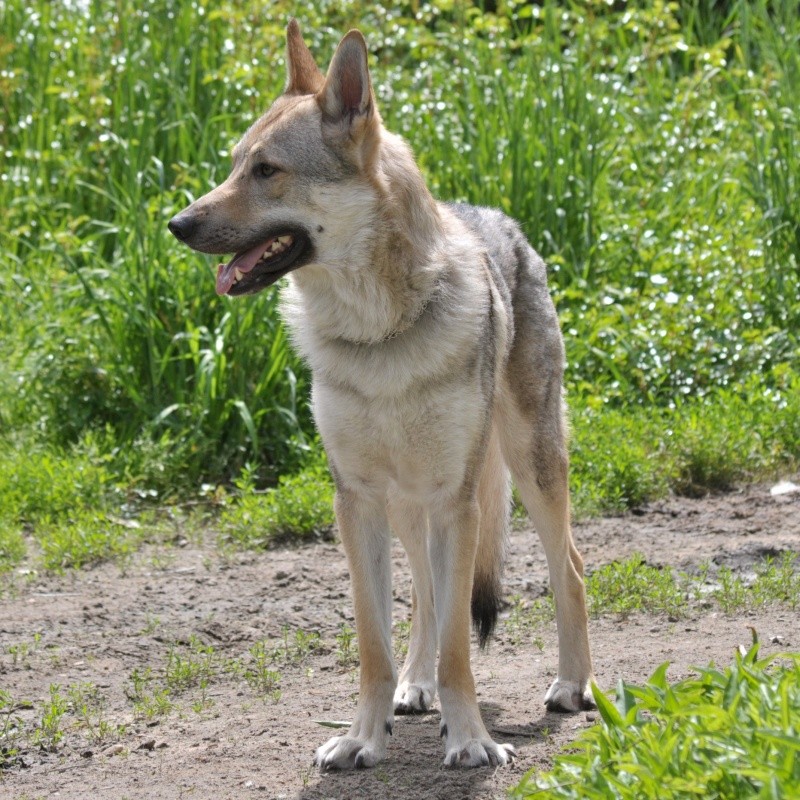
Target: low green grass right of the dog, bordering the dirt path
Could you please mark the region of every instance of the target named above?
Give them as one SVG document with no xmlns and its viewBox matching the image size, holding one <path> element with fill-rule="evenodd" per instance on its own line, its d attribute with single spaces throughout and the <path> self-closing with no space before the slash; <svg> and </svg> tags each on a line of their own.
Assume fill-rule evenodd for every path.
<svg viewBox="0 0 800 800">
<path fill-rule="evenodd" d="M 701 496 L 796 469 L 800 381 L 753 377 L 672 407 L 573 404 L 573 504 L 579 516 L 621 511 L 668 492 Z"/>
</svg>

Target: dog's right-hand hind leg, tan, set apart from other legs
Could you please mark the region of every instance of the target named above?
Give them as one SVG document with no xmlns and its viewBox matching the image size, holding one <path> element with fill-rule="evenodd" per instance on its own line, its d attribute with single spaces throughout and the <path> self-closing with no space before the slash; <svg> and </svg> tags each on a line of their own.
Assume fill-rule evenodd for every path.
<svg viewBox="0 0 800 800">
<path fill-rule="evenodd" d="M 551 393 L 552 394 L 552 393 Z M 558 678 L 547 694 L 551 711 L 593 708 L 583 560 L 570 529 L 568 458 L 560 390 L 557 407 L 531 419 L 513 400 L 503 404 L 502 447 L 522 502 L 544 546 L 558 626 Z"/>
</svg>

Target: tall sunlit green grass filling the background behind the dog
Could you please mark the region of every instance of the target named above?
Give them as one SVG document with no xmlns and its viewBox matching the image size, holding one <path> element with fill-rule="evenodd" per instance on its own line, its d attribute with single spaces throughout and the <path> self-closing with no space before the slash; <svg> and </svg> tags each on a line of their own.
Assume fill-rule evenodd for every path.
<svg viewBox="0 0 800 800">
<path fill-rule="evenodd" d="M 785 392 L 800 322 L 796 4 L 498 9 L 325 0 L 300 21 L 323 64 L 362 27 L 382 113 L 435 192 L 504 208 L 546 255 L 578 406 Z M 9 441 L 102 440 L 130 485 L 159 488 L 245 463 L 272 482 L 304 461 L 308 381 L 276 294 L 217 298 L 208 260 L 165 230 L 280 90 L 300 11 L 0 5 Z"/>
</svg>

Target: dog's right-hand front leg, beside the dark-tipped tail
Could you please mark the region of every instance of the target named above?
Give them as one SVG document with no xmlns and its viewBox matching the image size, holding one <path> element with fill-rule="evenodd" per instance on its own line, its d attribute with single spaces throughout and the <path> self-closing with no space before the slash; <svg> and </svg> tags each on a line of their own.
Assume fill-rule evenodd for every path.
<svg viewBox="0 0 800 800">
<path fill-rule="evenodd" d="M 441 735 L 448 767 L 507 764 L 514 748 L 497 744 L 481 719 L 470 668 L 470 600 L 478 546 L 478 505 L 454 498 L 431 510 L 430 561 L 439 636 Z"/>
</svg>

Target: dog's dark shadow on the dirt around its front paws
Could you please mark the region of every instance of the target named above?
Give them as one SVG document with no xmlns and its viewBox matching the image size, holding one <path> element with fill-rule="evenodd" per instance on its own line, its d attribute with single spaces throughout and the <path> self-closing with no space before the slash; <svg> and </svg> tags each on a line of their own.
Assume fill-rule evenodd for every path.
<svg viewBox="0 0 800 800">
<path fill-rule="evenodd" d="M 481 703 L 481 715 L 492 738 L 513 744 L 517 751 L 512 768 L 483 767 L 449 769 L 442 763 L 444 751 L 439 738 L 438 711 L 395 717 L 394 735 L 389 742 L 386 759 L 372 769 L 347 772 L 311 772 L 308 783 L 297 795 L 298 800 L 452 800 L 503 796 L 505 790 L 518 783 L 533 764 L 532 748 L 551 746 L 547 739 L 567 719 L 564 714 L 545 713 L 525 724 L 504 725 L 503 708 Z M 538 760 L 538 759 L 537 759 Z"/>
</svg>

